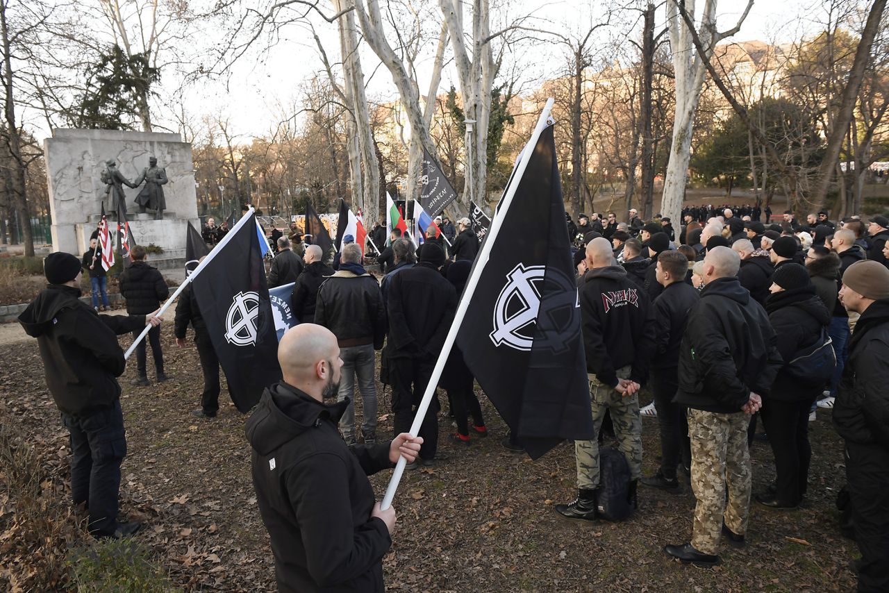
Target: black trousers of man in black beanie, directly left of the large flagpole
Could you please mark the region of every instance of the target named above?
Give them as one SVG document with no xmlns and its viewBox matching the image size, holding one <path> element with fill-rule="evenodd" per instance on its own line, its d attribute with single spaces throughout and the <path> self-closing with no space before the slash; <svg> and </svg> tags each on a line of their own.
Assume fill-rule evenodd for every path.
<svg viewBox="0 0 889 593">
<path fill-rule="evenodd" d="M 417 406 L 423 398 L 434 363 L 415 358 L 389 358 L 388 376 L 392 385 L 392 413 L 395 416 L 395 435 L 411 430 Z M 438 451 L 438 397 L 430 402 L 417 437 L 423 437 L 420 445 L 422 459 L 434 459 Z"/>
</svg>

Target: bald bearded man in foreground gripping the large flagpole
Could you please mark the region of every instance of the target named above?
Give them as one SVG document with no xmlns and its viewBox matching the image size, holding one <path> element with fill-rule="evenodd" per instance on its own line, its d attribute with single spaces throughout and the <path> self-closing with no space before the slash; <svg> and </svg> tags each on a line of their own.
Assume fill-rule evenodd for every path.
<svg viewBox="0 0 889 593">
<path fill-rule="evenodd" d="M 413 461 L 423 439 L 407 433 L 347 446 L 337 421 L 340 348 L 333 333 L 301 324 L 278 345 L 284 377 L 262 394 L 250 420 L 252 477 L 271 536 L 279 591 L 383 591 L 382 557 L 395 509 L 380 510 L 367 476 Z"/>
</svg>

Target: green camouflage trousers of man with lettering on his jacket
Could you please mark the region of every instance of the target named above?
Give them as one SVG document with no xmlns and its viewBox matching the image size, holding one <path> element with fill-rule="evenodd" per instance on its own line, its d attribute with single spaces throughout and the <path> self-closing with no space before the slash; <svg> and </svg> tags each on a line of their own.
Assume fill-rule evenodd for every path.
<svg viewBox="0 0 889 593">
<path fill-rule="evenodd" d="M 617 370 L 621 379 L 629 377 L 630 367 Z M 603 385 L 596 375 L 589 375 L 589 399 L 593 408 L 595 434 L 591 441 L 574 441 L 574 460 L 577 464 L 577 487 L 592 490 L 599 485 L 599 429 L 605 410 L 611 411 L 618 447 L 629 464 L 629 475 L 642 477 L 642 421 L 639 419 L 639 398 L 623 397 L 609 385 Z"/>
</svg>

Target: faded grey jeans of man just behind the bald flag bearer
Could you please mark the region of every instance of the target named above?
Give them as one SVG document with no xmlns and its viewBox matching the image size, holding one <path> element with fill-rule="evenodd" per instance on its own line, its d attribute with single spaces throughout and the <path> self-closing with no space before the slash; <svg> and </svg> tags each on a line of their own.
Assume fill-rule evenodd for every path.
<svg viewBox="0 0 889 593">
<path fill-rule="evenodd" d="M 364 422 L 361 432 L 364 437 L 376 432 L 377 429 L 377 386 L 373 381 L 373 344 L 350 346 L 340 349 L 342 371 L 340 372 L 340 391 L 337 401 L 348 397 L 348 408 L 340 418 L 340 430 L 343 437 L 355 437 L 355 378 L 358 378 L 358 389 L 364 407 Z"/>
</svg>

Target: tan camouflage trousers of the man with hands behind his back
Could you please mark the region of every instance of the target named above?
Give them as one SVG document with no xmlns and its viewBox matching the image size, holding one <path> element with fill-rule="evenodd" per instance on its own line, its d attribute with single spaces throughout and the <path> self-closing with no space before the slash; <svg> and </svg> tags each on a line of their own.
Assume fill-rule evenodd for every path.
<svg viewBox="0 0 889 593">
<path fill-rule="evenodd" d="M 750 455 L 743 412 L 688 411 L 692 439 L 694 507 L 692 545 L 704 554 L 717 554 L 722 524 L 743 535 L 750 509 Z M 728 502 L 725 490 L 728 489 Z"/>
</svg>

